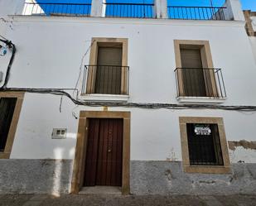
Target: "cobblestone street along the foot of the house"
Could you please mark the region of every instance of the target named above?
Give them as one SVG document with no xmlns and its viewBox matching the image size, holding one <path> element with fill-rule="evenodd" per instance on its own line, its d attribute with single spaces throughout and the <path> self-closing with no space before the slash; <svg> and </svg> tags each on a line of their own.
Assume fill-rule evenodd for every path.
<svg viewBox="0 0 256 206">
<path fill-rule="evenodd" d="M 0 206 L 256 206 L 256 196 L 192 196 L 192 195 L 62 195 L 60 198 L 33 194 L 0 195 Z"/>
</svg>

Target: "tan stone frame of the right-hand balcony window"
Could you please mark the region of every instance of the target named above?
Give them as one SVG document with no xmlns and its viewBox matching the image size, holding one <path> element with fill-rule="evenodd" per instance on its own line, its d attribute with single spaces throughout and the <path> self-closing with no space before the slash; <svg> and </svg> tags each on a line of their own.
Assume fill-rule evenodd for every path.
<svg viewBox="0 0 256 206">
<path fill-rule="evenodd" d="M 191 41 L 191 40 L 174 40 L 174 50 L 175 50 L 175 58 L 176 58 L 176 68 L 182 68 L 181 65 L 181 49 L 200 49 L 200 55 L 202 60 L 203 68 L 210 69 L 207 74 L 210 75 L 210 91 L 206 92 L 205 97 L 214 97 L 219 98 L 219 93 L 215 80 L 215 73 L 212 70 L 214 68 L 212 55 L 210 52 L 210 43 L 209 41 Z M 206 70 L 204 70 L 206 72 Z M 185 89 L 183 88 L 183 79 L 182 72 L 180 69 L 177 70 L 177 81 L 178 89 L 179 89 L 179 97 L 187 97 L 185 93 Z M 206 79 L 205 79 L 206 81 Z M 207 84 L 207 83 L 205 83 Z M 208 84 L 207 84 L 208 85 Z M 208 89 L 206 89 L 208 90 Z"/>
</svg>

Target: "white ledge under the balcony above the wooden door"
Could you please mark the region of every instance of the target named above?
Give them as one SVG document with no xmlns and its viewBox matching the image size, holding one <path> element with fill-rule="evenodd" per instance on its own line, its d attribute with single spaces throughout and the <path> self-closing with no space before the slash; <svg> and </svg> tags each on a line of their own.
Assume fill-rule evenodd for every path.
<svg viewBox="0 0 256 206">
<path fill-rule="evenodd" d="M 101 94 L 101 93 L 92 93 L 81 94 L 80 98 L 85 101 L 95 101 L 95 102 L 127 102 L 129 95 L 122 94 Z"/>
</svg>

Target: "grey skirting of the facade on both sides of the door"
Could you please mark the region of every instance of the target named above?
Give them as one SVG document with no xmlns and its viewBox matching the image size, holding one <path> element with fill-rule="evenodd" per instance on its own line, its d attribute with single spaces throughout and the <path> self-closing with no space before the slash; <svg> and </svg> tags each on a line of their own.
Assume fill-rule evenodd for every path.
<svg viewBox="0 0 256 206">
<path fill-rule="evenodd" d="M 0 194 L 67 194 L 72 160 L 0 160 Z M 188 174 L 181 162 L 131 161 L 132 194 L 256 194 L 256 164 L 232 174 Z"/>
</svg>

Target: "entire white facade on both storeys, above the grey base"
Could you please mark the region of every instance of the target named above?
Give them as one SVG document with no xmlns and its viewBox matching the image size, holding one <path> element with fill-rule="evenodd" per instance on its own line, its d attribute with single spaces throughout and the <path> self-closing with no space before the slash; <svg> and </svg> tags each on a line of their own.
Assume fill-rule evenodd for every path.
<svg viewBox="0 0 256 206">
<path fill-rule="evenodd" d="M 256 88 L 256 82 L 254 80 L 256 66 L 246 32 L 244 31 L 244 22 L 63 19 L 64 22 L 60 24 L 61 17 L 53 19 L 34 17 L 33 20 L 31 20 L 31 17 L 14 18 L 17 18 L 17 21 L 13 23 L 16 32 L 10 32 L 8 38 L 12 39 L 13 42 L 20 43 L 17 45 L 17 56 L 12 66 L 9 87 L 74 88 L 80 72 L 82 56 L 88 49 L 92 37 L 126 37 L 128 38 L 128 65 L 130 66 L 130 96 L 128 102 L 178 103 L 176 101 L 174 74 L 176 65 L 173 40 L 208 40 L 210 41 L 210 49 L 215 68 L 221 68 L 225 78 L 228 98 L 223 105 L 254 105 L 256 103 L 255 90 L 252 89 Z M 142 23 L 138 24 L 138 22 Z M 102 29 L 104 26 L 106 29 Z M 173 32 L 174 30 L 175 32 Z M 188 33 L 187 31 L 190 32 Z M 225 44 L 220 42 L 225 42 Z M 83 64 L 88 65 L 88 61 L 89 55 L 85 57 Z M 147 68 L 147 72 L 145 72 L 145 68 Z M 21 78 L 22 76 L 24 78 Z M 37 96 L 38 98 L 36 98 Z M 74 154 L 77 121 L 72 117 L 71 112 L 72 108 L 75 108 L 75 105 L 67 101 L 67 105 L 63 105 L 63 113 L 60 113 L 60 98 L 51 97 L 51 95 L 48 98 L 44 98 L 44 96 L 47 97 L 44 94 L 26 94 L 25 99 L 27 101 L 24 101 L 22 107 L 22 116 L 20 117 L 19 127 L 17 128 L 17 137 L 15 138 L 12 150 L 12 158 L 29 158 L 29 156 L 33 156 L 33 158 L 55 158 L 56 156 L 53 155 L 53 151 L 62 144 L 64 144 L 65 150 L 69 152 L 73 151 L 71 154 Z M 42 103 L 41 101 L 46 101 L 46 103 Z M 56 106 L 54 107 L 53 105 L 55 104 Z M 45 105 L 49 109 L 46 109 L 46 111 L 45 109 L 43 110 L 45 117 L 42 117 L 42 110 L 39 108 Z M 38 109 L 37 114 L 36 108 Z M 80 109 L 102 110 L 102 108 Z M 133 113 L 133 109 L 125 109 L 132 111 L 132 143 L 134 141 L 134 147 L 133 145 L 131 147 L 132 157 L 134 151 L 135 160 L 166 160 L 168 152 L 173 147 L 178 160 L 181 160 L 178 117 L 193 116 L 194 112 L 171 112 L 163 110 L 162 113 L 166 113 L 167 115 L 164 118 L 161 111 L 158 110 L 136 108 L 135 111 L 137 112 Z M 112 108 L 109 110 L 112 110 Z M 79 108 L 75 108 L 77 116 L 79 115 L 78 111 Z M 230 131 L 227 134 L 234 133 L 234 135 L 227 135 L 229 140 L 254 140 L 252 136 L 254 124 L 252 127 L 249 127 L 250 124 L 248 125 L 247 123 L 246 127 L 248 128 L 240 131 L 238 126 L 242 122 L 238 123 L 236 121 L 246 118 L 248 122 L 252 123 L 256 121 L 255 115 L 221 110 L 211 112 L 205 110 L 197 111 L 195 115 L 204 117 L 206 112 L 209 113 L 206 116 L 224 117 L 224 119 L 226 118 L 225 113 L 227 113 L 227 118 L 228 113 L 231 113 L 230 121 L 225 120 L 227 125 L 230 124 Z M 30 113 L 33 114 L 31 117 L 29 115 Z M 138 116 L 138 113 L 141 113 L 141 115 Z M 163 132 L 160 132 L 161 130 L 157 131 L 155 127 L 149 127 L 152 130 L 143 129 L 142 131 L 146 133 L 142 135 L 142 126 L 138 128 L 138 131 L 136 130 L 136 125 L 138 124 L 136 122 L 141 122 L 142 119 L 139 118 L 137 120 L 136 116 L 143 117 L 144 115 L 150 114 L 152 114 L 152 117 L 159 117 L 160 124 L 164 123 L 171 125 L 171 127 L 163 127 L 167 131 L 164 139 L 161 138 L 163 147 L 159 146 L 159 149 L 161 148 L 159 151 L 153 149 L 156 146 L 156 142 L 153 141 L 152 144 L 148 143 L 149 146 L 152 146 L 152 148 L 148 148 L 148 151 L 156 152 L 156 154 L 149 157 L 147 151 L 138 152 L 140 150 L 140 144 L 143 145 L 143 142 L 151 142 L 152 140 L 150 139 L 147 141 L 147 137 L 154 139 L 157 133 L 163 134 Z M 238 115 L 238 118 L 235 118 L 236 121 L 232 121 L 233 115 Z M 150 121 L 152 117 L 145 117 L 145 120 Z M 24 122 L 22 121 L 23 118 Z M 161 118 L 165 120 L 161 121 Z M 172 118 L 173 120 L 171 121 Z M 34 122 L 35 127 L 32 127 L 28 122 Z M 45 127 L 41 125 L 43 122 L 46 122 Z M 38 131 L 36 131 L 36 125 L 38 125 Z M 227 125 L 225 126 L 228 127 Z M 27 133 L 26 127 L 30 127 L 34 132 L 30 132 L 29 129 Z M 67 127 L 68 131 L 72 134 L 72 138 L 68 138 L 67 140 L 51 140 L 51 130 L 53 127 Z M 146 123 L 145 127 L 148 127 Z M 46 130 L 42 130 L 43 128 Z M 27 133 L 26 136 L 24 136 L 24 132 Z M 244 132 L 248 132 L 248 134 L 245 135 Z M 239 133 L 243 135 L 239 135 Z M 173 136 L 176 140 L 173 140 Z M 24 141 L 23 138 L 28 139 Z M 41 142 L 44 138 L 46 138 L 46 141 Z M 47 139 L 49 141 L 48 143 Z M 158 138 L 155 141 L 158 141 Z M 27 142 L 29 143 L 27 144 Z M 139 142 L 140 144 L 138 144 Z M 37 155 L 36 153 L 39 152 L 38 149 L 41 148 L 41 143 L 46 144 L 46 148 L 50 151 L 40 151 L 41 155 Z M 25 147 L 20 144 L 24 144 Z M 29 144 L 33 145 L 36 153 L 27 150 L 31 147 Z M 36 145 L 38 148 L 36 148 Z M 135 149 L 136 146 L 138 146 L 138 151 Z M 144 152 L 145 154 L 140 154 Z M 160 155 L 161 152 L 163 152 L 162 155 Z M 72 158 L 73 155 L 69 153 L 69 155 L 59 156 L 58 158 L 62 157 Z"/>
</svg>

